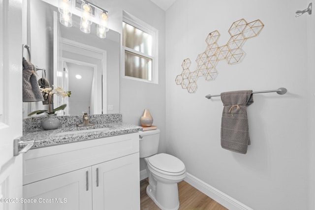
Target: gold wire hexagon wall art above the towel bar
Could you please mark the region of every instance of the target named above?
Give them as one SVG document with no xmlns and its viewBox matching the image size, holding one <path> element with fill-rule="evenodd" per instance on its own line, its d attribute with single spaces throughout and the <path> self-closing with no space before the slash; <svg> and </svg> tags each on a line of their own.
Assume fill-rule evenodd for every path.
<svg viewBox="0 0 315 210">
<path fill-rule="evenodd" d="M 187 89 L 189 93 L 196 92 L 197 79 L 201 76 L 207 81 L 216 79 L 218 71 L 216 65 L 219 60 L 225 60 L 228 64 L 234 64 L 241 60 L 244 52 L 242 45 L 248 38 L 257 36 L 264 27 L 260 20 L 247 23 L 244 19 L 235 21 L 230 29 L 230 39 L 225 45 L 219 46 L 217 41 L 220 37 L 218 30 L 215 30 L 206 38 L 207 47 L 203 53 L 196 58 L 197 67 L 195 71 L 190 72 L 189 67 L 191 61 L 185 59 L 182 63 L 183 71 L 176 76 L 175 82 L 181 85 L 183 89 Z"/>
</svg>

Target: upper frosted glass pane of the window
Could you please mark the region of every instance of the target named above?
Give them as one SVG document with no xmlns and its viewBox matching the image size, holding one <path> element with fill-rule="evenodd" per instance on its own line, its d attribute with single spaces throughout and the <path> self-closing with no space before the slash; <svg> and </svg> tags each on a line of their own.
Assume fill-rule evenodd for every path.
<svg viewBox="0 0 315 210">
<path fill-rule="evenodd" d="M 152 36 L 123 22 L 123 45 L 152 56 Z"/>
</svg>

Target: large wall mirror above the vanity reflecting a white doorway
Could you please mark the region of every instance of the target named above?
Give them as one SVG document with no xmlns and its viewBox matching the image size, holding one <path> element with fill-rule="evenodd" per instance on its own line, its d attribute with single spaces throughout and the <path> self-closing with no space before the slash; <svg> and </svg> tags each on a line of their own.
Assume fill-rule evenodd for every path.
<svg viewBox="0 0 315 210">
<path fill-rule="evenodd" d="M 54 97 L 54 107 L 67 104 L 58 115 L 119 113 L 120 34 L 109 30 L 101 39 L 96 36 L 95 24 L 91 33 L 83 33 L 79 29 L 80 17 L 74 14 L 72 27 L 65 27 L 59 22 L 58 8 L 52 5 L 57 3 L 28 1 L 27 37 L 32 63 L 46 69 L 51 86 L 71 91 L 69 98 Z M 37 74 L 42 77 L 41 70 Z M 31 103 L 28 110 L 40 106 L 41 102 Z"/>
</svg>

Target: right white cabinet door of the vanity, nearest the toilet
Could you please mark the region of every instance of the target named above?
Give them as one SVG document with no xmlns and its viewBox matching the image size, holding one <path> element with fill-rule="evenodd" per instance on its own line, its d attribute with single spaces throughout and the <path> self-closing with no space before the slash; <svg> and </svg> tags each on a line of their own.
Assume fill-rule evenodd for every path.
<svg viewBox="0 0 315 210">
<path fill-rule="evenodd" d="M 140 210 L 139 170 L 139 152 L 92 166 L 93 210 Z"/>
</svg>

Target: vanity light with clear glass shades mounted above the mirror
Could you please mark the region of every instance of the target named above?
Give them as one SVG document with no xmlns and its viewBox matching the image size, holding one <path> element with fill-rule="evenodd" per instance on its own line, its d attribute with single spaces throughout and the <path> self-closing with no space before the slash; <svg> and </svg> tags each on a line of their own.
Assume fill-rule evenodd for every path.
<svg viewBox="0 0 315 210">
<path fill-rule="evenodd" d="M 77 1 L 81 6 L 77 7 Z M 80 30 L 84 33 L 91 32 L 91 25 L 96 24 L 96 35 L 99 38 L 106 38 L 108 27 L 108 11 L 102 9 L 87 0 L 59 0 L 60 23 L 66 27 L 72 27 L 71 9 L 78 10 L 81 17 Z M 78 12 L 74 12 L 78 14 Z"/>
</svg>

